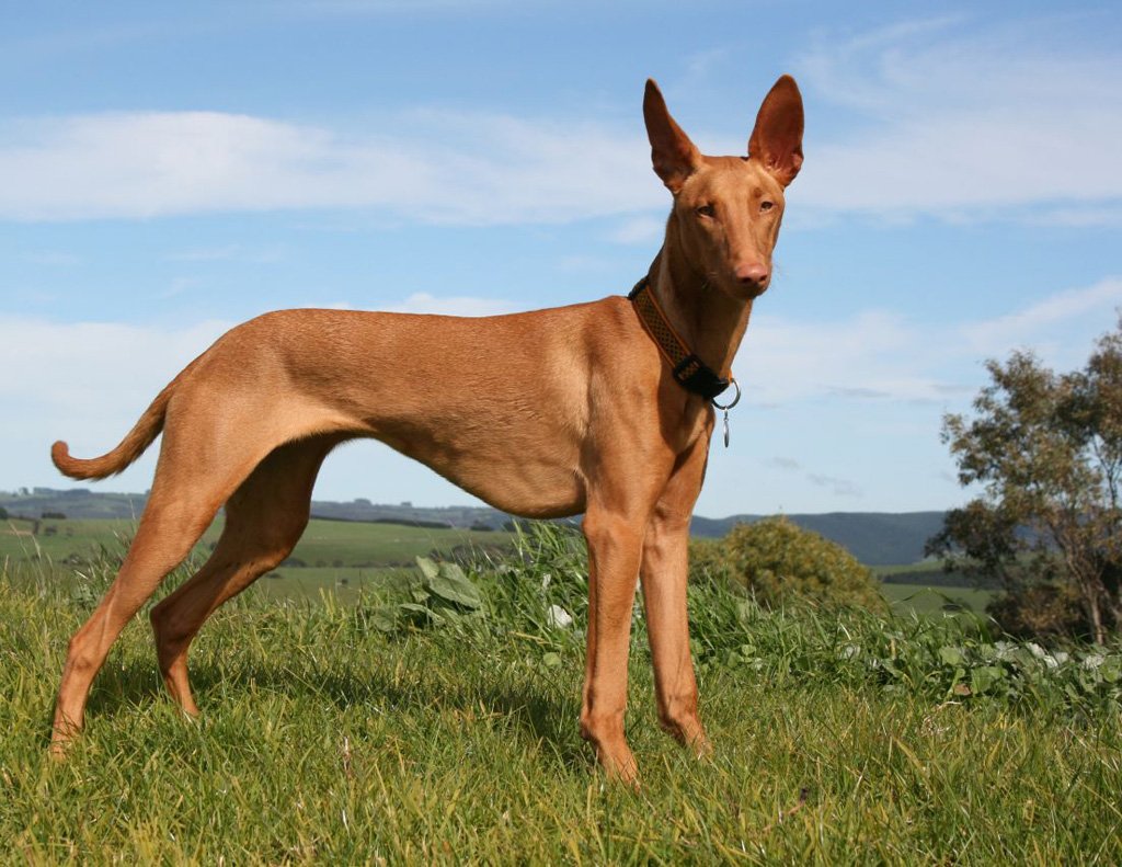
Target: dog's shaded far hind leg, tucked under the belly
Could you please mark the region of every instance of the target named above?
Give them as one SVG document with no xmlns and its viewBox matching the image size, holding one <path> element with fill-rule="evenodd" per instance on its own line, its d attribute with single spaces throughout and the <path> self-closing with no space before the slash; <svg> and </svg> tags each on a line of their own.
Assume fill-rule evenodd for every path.
<svg viewBox="0 0 1122 867">
<path fill-rule="evenodd" d="M 226 528 L 203 567 L 151 610 L 156 655 L 172 697 L 199 712 L 187 678 L 187 649 L 223 603 L 275 568 L 307 526 L 312 486 L 343 437 L 322 436 L 274 449 L 226 504 Z"/>
</svg>

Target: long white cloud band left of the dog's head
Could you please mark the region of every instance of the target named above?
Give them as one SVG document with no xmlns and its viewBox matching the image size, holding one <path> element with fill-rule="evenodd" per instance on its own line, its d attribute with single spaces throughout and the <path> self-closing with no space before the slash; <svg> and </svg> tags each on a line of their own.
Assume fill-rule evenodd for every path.
<svg viewBox="0 0 1122 867">
<path fill-rule="evenodd" d="M 638 135 L 435 111 L 380 126 L 393 131 L 344 135 L 205 111 L 8 121 L 0 219 L 383 208 L 489 225 L 607 216 L 665 198 Z"/>
</svg>

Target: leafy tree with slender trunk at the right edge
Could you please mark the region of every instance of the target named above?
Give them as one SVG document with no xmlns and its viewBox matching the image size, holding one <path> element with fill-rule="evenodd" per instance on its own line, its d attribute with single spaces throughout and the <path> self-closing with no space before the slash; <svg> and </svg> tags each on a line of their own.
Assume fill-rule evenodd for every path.
<svg viewBox="0 0 1122 867">
<path fill-rule="evenodd" d="M 1122 319 L 1080 371 L 1056 374 L 1028 352 L 986 369 L 974 418 L 942 426 L 959 482 L 982 495 L 947 514 L 928 553 L 1014 599 L 1052 587 L 1077 600 L 1103 642 L 1122 629 Z"/>
</svg>

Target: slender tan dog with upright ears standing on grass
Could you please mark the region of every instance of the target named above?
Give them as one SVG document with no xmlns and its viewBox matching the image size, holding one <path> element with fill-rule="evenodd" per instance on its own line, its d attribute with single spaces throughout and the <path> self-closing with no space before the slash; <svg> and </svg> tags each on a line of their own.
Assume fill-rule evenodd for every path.
<svg viewBox="0 0 1122 867">
<path fill-rule="evenodd" d="M 653 81 L 643 115 L 654 171 L 674 201 L 634 303 L 613 296 L 479 319 L 267 313 L 192 362 L 109 454 L 81 460 L 65 442 L 54 445 L 67 476 L 102 478 L 164 431 L 136 539 L 70 642 L 56 754 L 81 729 L 90 684 L 121 629 L 224 504 L 226 529 L 210 559 L 151 611 L 164 681 L 185 712 L 197 713 L 187 682 L 192 639 L 219 605 L 288 556 L 307 523 L 320 464 L 356 437 L 389 444 L 503 511 L 582 512 L 589 622 L 581 734 L 610 776 L 635 779 L 624 705 L 642 575 L 659 720 L 681 742 L 708 749 L 686 574 L 714 429 L 709 398 L 720 382 L 714 387 L 692 373 L 700 359 L 729 375 L 753 299 L 771 280 L 783 188 L 802 163 L 802 101 L 794 81 L 781 77 L 743 157 L 702 156 Z M 697 356 L 677 377 L 668 331 Z M 653 339 L 660 332 L 662 346 Z"/>
</svg>

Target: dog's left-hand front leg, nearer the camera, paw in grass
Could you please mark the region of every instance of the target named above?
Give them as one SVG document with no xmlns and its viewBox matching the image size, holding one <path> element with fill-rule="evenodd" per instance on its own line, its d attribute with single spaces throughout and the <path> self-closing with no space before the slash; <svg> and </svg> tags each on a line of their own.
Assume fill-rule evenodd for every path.
<svg viewBox="0 0 1122 867">
<path fill-rule="evenodd" d="M 585 513 L 588 541 L 588 658 L 580 733 L 610 778 L 634 784 L 635 758 L 624 738 L 627 651 L 642 546 L 642 523 L 604 506 Z"/>
</svg>

